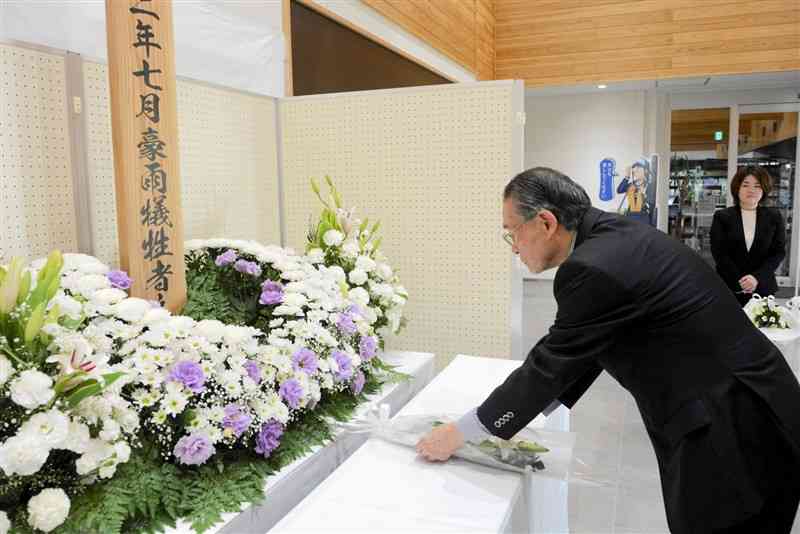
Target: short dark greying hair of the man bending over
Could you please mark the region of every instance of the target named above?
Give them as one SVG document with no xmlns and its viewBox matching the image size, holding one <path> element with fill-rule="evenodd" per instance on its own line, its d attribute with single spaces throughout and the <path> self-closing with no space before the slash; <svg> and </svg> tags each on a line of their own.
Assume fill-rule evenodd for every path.
<svg viewBox="0 0 800 534">
<path fill-rule="evenodd" d="M 583 187 L 569 176 L 547 167 L 534 167 L 516 175 L 503 191 L 503 199 L 508 198 L 526 221 L 546 209 L 570 231 L 578 227 L 592 206 Z"/>
</svg>

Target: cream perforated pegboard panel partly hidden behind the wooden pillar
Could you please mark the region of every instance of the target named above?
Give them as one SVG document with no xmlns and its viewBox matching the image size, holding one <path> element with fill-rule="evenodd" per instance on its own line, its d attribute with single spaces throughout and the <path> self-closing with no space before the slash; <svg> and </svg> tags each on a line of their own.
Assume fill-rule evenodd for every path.
<svg viewBox="0 0 800 534">
<path fill-rule="evenodd" d="M 280 242 L 275 100 L 178 80 L 186 239 Z M 107 68 L 84 63 L 95 253 L 118 261 Z"/>
</svg>

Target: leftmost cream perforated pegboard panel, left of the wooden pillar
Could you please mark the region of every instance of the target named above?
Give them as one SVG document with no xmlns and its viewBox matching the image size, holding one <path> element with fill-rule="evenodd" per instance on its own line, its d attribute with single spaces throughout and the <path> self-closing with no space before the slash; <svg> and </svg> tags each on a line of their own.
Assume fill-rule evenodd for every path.
<svg viewBox="0 0 800 534">
<path fill-rule="evenodd" d="M 0 45 L 0 254 L 55 248 L 77 250 L 65 60 Z"/>
</svg>

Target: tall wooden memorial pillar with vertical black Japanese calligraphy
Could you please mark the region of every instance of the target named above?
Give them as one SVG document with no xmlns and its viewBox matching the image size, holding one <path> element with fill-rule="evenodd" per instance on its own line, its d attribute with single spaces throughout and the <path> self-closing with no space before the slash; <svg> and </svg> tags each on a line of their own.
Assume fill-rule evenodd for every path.
<svg viewBox="0 0 800 534">
<path fill-rule="evenodd" d="M 171 0 L 106 0 L 121 267 L 131 295 L 186 302 Z"/>
</svg>

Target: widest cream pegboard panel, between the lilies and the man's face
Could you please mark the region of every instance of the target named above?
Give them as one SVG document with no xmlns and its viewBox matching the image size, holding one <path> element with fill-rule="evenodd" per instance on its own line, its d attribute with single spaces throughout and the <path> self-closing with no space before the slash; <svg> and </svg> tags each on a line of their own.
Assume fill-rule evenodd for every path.
<svg viewBox="0 0 800 534">
<path fill-rule="evenodd" d="M 505 357 L 510 249 L 500 239 L 512 172 L 511 83 L 281 100 L 288 244 L 319 212 L 309 178 L 330 175 L 345 203 L 382 221 L 383 249 L 409 291 L 393 349 Z"/>
</svg>

